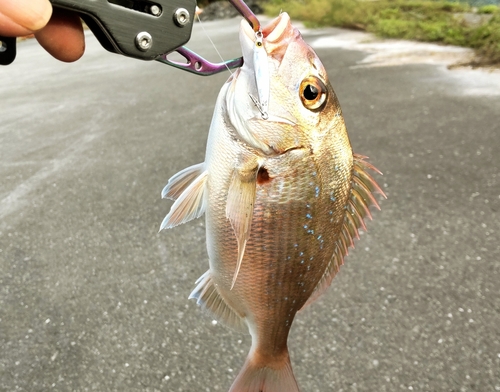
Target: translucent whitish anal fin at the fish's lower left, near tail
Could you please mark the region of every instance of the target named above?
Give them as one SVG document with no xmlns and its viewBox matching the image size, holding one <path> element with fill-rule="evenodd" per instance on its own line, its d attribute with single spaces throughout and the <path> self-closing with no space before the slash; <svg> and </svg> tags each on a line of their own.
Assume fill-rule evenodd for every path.
<svg viewBox="0 0 500 392">
<path fill-rule="evenodd" d="M 196 287 L 189 295 L 189 299 L 192 298 L 195 298 L 198 305 L 222 324 L 240 332 L 248 332 L 244 318 L 237 314 L 220 295 L 212 280 L 210 270 L 196 281 Z"/>
</svg>

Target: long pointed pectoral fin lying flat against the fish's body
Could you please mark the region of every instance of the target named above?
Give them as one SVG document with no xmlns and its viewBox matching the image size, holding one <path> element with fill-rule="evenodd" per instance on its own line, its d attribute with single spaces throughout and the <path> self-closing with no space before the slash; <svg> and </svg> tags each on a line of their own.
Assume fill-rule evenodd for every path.
<svg viewBox="0 0 500 392">
<path fill-rule="evenodd" d="M 227 194 L 226 218 L 231 222 L 236 240 L 238 241 L 238 259 L 231 289 L 236 283 L 243 255 L 245 254 L 245 247 L 250 237 L 257 172 L 258 167 L 249 171 L 235 170 Z"/>
</svg>

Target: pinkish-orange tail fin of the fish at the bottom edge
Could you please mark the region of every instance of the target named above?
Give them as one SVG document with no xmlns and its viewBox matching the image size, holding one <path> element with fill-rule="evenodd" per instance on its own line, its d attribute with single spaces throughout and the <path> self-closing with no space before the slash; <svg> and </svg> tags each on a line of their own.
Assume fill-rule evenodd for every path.
<svg viewBox="0 0 500 392">
<path fill-rule="evenodd" d="M 250 354 L 229 392 L 300 392 L 288 352 L 272 367 L 254 364 Z"/>
</svg>

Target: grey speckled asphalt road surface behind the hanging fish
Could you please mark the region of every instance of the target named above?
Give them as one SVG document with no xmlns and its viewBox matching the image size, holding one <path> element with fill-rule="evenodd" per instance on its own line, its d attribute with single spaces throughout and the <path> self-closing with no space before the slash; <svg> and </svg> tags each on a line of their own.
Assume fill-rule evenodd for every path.
<svg viewBox="0 0 500 392">
<path fill-rule="evenodd" d="M 225 58 L 237 28 L 205 23 Z M 250 339 L 187 299 L 208 265 L 204 222 L 158 228 L 160 191 L 203 160 L 228 75 L 87 41 L 70 65 L 24 42 L 0 69 L 0 390 L 226 391 Z M 202 32 L 190 47 L 217 59 Z M 498 79 L 318 53 L 388 200 L 295 321 L 302 391 L 500 390 Z"/>
</svg>

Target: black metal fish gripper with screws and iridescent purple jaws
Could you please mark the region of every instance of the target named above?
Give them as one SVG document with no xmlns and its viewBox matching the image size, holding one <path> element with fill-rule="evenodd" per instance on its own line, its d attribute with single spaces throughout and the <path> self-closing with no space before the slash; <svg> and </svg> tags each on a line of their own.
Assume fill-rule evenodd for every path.
<svg viewBox="0 0 500 392">
<path fill-rule="evenodd" d="M 243 0 L 228 0 L 255 31 L 260 23 Z M 50 0 L 76 12 L 108 51 L 140 60 L 157 60 L 197 75 L 237 68 L 243 59 L 211 63 L 183 45 L 191 38 L 196 0 Z M 179 53 L 186 61 L 169 60 Z M 16 38 L 0 36 L 0 65 L 16 57 Z"/>
</svg>

